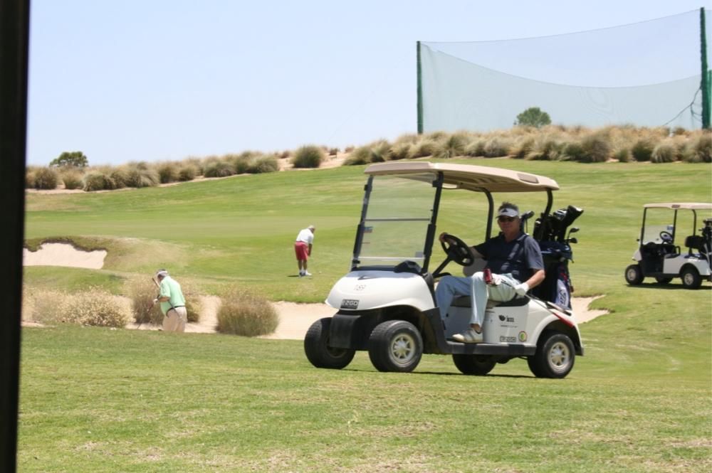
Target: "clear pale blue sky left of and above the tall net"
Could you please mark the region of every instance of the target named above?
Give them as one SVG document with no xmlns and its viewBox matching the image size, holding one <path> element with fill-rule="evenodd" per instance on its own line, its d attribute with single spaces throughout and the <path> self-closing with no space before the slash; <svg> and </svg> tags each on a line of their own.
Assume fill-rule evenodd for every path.
<svg viewBox="0 0 712 473">
<path fill-rule="evenodd" d="M 27 161 L 82 151 L 91 165 L 117 165 L 395 139 L 416 131 L 416 41 L 548 36 L 701 6 L 33 0 Z"/>
</svg>

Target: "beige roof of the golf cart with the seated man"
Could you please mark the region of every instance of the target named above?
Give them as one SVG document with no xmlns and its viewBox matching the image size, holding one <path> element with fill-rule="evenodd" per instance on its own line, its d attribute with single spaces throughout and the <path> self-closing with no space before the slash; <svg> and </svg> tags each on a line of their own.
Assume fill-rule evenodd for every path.
<svg viewBox="0 0 712 473">
<path fill-rule="evenodd" d="M 444 176 L 443 188 L 480 192 L 556 191 L 559 188 L 556 181 L 545 176 L 471 164 L 399 161 L 371 164 L 364 172 L 372 176 L 401 175 L 407 178 L 411 177 L 408 174 L 412 174 L 412 179 L 441 172 Z"/>
</svg>

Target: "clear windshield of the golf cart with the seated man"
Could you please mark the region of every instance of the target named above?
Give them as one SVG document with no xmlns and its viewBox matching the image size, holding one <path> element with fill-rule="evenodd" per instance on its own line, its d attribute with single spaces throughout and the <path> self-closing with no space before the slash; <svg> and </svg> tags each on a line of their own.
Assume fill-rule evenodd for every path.
<svg viewBox="0 0 712 473">
<path fill-rule="evenodd" d="M 392 268 L 404 261 L 425 265 L 436 179 L 434 173 L 370 177 L 354 267 Z"/>
</svg>

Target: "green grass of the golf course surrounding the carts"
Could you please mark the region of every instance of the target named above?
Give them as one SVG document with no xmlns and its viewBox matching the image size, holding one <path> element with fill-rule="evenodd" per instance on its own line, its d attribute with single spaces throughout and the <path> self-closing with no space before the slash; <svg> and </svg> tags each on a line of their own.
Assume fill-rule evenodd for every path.
<svg viewBox="0 0 712 473">
<path fill-rule="evenodd" d="M 711 166 L 459 162 L 550 176 L 555 208 L 585 208 L 575 295 L 604 294 L 594 307 L 611 314 L 582 325 L 586 356 L 567 378 L 533 378 L 520 360 L 461 376 L 432 355 L 414 373 L 379 373 L 364 352 L 331 371 L 313 368 L 300 341 L 28 328 L 19 471 L 711 471 L 711 285 L 623 280 L 642 204 L 710 201 Z M 109 256 L 103 270 L 28 267 L 25 283 L 120 292 L 122 278 L 167 266 L 206 291 L 239 282 L 321 301 L 347 270 L 364 181 L 358 167 L 31 194 L 27 238 L 74 237 Z M 468 197 L 444 205 L 476 211 Z M 292 242 L 308 223 L 318 230 L 305 280 L 292 277 Z M 439 230 L 478 241 L 477 225 L 443 210 Z"/>
</svg>

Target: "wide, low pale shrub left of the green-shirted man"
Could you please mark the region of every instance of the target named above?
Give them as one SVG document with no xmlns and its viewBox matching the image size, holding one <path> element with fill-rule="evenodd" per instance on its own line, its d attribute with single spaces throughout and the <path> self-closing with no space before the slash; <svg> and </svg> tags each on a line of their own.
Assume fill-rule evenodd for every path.
<svg viewBox="0 0 712 473">
<path fill-rule="evenodd" d="M 57 312 L 57 321 L 91 326 L 123 327 L 131 318 L 121 297 L 97 288 L 64 297 Z"/>
</svg>

